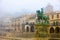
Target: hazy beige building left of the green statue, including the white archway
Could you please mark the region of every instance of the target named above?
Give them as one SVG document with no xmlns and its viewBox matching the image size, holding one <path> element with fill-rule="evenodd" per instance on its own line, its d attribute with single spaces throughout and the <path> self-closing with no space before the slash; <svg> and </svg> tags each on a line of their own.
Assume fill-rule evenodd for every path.
<svg viewBox="0 0 60 40">
<path fill-rule="evenodd" d="M 31 26 L 36 21 L 36 15 L 35 14 L 29 14 L 24 15 L 22 17 L 17 17 L 12 19 L 11 26 L 14 27 L 14 30 L 16 32 L 30 32 L 30 30 L 33 30 Z M 29 30 L 30 29 L 30 30 Z"/>
</svg>

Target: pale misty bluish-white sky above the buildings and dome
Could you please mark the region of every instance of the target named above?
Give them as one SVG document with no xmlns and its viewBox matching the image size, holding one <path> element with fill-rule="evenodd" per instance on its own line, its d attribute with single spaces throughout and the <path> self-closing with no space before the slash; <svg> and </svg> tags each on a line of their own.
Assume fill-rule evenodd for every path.
<svg viewBox="0 0 60 40">
<path fill-rule="evenodd" d="M 51 4 L 55 11 L 60 11 L 60 0 L 0 0 L 0 16 L 35 12 L 47 4 Z"/>
</svg>

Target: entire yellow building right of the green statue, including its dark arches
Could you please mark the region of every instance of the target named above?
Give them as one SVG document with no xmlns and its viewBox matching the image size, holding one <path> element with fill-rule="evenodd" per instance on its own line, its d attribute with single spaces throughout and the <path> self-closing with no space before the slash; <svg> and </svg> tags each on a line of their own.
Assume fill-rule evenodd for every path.
<svg viewBox="0 0 60 40">
<path fill-rule="evenodd" d="M 60 38 L 60 12 L 46 13 L 49 17 L 48 33 L 51 38 Z M 60 40 L 60 39 L 59 39 Z"/>
</svg>

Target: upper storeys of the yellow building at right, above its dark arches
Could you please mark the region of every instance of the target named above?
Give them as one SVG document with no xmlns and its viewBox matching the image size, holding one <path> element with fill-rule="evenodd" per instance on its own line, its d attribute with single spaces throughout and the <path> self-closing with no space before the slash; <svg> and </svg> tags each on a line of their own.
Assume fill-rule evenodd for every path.
<svg viewBox="0 0 60 40">
<path fill-rule="evenodd" d="M 50 28 L 60 28 L 60 12 L 46 13 L 46 15 L 49 17 Z"/>
</svg>

